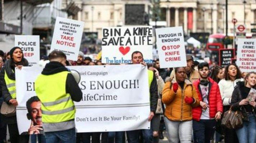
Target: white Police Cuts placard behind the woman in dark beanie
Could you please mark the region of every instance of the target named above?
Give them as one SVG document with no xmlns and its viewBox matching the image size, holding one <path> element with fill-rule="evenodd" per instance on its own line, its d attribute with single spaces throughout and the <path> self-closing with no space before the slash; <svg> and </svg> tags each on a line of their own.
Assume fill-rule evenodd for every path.
<svg viewBox="0 0 256 143">
<path fill-rule="evenodd" d="M 40 61 L 40 38 L 39 35 L 15 35 L 14 46 L 22 49 L 24 58 L 29 66 L 37 65 Z"/>
</svg>

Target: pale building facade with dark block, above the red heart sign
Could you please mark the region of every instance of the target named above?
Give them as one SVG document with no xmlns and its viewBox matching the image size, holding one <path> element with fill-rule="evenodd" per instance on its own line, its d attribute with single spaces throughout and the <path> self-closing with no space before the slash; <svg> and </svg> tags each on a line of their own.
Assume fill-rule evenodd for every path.
<svg viewBox="0 0 256 143">
<path fill-rule="evenodd" d="M 150 0 L 83 0 L 76 19 L 101 39 L 103 27 L 145 25 L 150 5 Z"/>
</svg>

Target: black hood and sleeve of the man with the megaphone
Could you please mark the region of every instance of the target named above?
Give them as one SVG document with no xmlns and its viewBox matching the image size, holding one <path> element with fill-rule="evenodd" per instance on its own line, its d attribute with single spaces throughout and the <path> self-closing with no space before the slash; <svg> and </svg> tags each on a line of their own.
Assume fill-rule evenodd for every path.
<svg viewBox="0 0 256 143">
<path fill-rule="evenodd" d="M 42 74 L 52 75 L 52 74 L 60 73 L 62 71 L 69 71 L 69 70 L 65 68 L 63 64 L 57 61 L 51 61 L 50 63 L 45 65 L 45 68 L 43 69 Z M 66 93 L 69 93 L 71 96 L 71 99 L 75 102 L 79 102 L 82 100 L 83 93 L 71 73 L 67 75 Z"/>
</svg>

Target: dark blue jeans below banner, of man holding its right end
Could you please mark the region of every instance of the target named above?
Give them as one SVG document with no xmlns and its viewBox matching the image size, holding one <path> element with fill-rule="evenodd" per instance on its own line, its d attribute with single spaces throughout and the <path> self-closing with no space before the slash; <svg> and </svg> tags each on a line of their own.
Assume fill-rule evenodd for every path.
<svg viewBox="0 0 256 143">
<path fill-rule="evenodd" d="M 153 132 L 152 132 L 151 129 L 127 131 L 126 133 L 127 133 L 127 136 L 128 136 L 128 142 L 129 143 L 139 143 L 140 131 L 143 134 L 144 143 L 152 143 Z"/>
</svg>

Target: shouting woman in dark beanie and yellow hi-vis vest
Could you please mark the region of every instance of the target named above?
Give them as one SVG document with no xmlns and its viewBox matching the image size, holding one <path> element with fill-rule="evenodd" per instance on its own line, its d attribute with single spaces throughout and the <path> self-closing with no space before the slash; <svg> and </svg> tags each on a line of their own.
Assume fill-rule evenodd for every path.
<svg viewBox="0 0 256 143">
<path fill-rule="evenodd" d="M 12 48 L 10 56 L 11 58 L 5 62 L 0 73 L 1 96 L 7 104 L 16 107 L 18 102 L 16 100 L 15 67 L 28 66 L 28 61 L 24 58 L 22 49 L 19 47 Z M 2 115 L 2 117 L 3 122 L 8 125 L 11 143 L 28 143 L 29 135 L 19 135 L 16 115 L 12 117 Z"/>
</svg>

